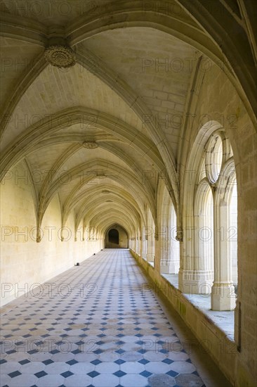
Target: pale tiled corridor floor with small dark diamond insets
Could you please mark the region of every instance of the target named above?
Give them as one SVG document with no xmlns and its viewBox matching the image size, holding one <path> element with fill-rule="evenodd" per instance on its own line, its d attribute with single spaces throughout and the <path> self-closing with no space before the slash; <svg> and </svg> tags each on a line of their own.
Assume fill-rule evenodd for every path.
<svg viewBox="0 0 257 387">
<path fill-rule="evenodd" d="M 2 312 L 1 387 L 230 386 L 206 354 L 186 352 L 183 322 L 129 250 L 103 250 Z"/>
</svg>

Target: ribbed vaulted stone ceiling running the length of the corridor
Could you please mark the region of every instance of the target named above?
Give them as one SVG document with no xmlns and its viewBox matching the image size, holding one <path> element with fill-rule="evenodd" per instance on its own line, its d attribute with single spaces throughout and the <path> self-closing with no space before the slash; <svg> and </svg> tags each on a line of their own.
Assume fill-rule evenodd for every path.
<svg viewBox="0 0 257 387">
<path fill-rule="evenodd" d="M 224 63 L 254 119 L 253 15 L 242 0 L 1 1 L 1 171 L 26 166 L 38 225 L 58 195 L 63 224 L 74 212 L 77 226 L 132 232 L 145 206 L 156 216 L 159 175 L 176 206 L 200 61 Z M 44 57 L 59 38 L 71 68 Z"/>
</svg>

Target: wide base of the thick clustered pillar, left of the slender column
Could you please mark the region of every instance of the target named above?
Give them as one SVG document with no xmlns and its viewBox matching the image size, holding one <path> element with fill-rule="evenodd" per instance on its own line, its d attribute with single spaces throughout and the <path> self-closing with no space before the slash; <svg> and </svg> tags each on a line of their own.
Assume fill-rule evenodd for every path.
<svg viewBox="0 0 257 387">
<path fill-rule="evenodd" d="M 178 272 L 178 288 L 187 294 L 211 294 L 213 271 L 180 270 Z"/>
</svg>

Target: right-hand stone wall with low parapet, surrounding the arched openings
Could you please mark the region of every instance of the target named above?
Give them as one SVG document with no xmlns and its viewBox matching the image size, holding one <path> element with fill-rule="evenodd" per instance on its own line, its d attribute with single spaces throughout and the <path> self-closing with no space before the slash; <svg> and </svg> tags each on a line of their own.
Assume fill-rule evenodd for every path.
<svg viewBox="0 0 257 387">
<path fill-rule="evenodd" d="M 196 93 L 196 90 L 192 90 Z M 140 265 L 147 269 L 159 289 L 168 286 L 166 297 L 169 302 L 183 317 L 187 325 L 195 333 L 199 341 L 211 343 L 208 348 L 211 357 L 215 360 L 230 379 L 234 386 L 255 386 L 256 381 L 256 131 L 239 99 L 235 87 L 228 77 L 216 65 L 211 65 L 202 76 L 199 89 L 194 96 L 195 110 L 190 113 L 190 122 L 184 128 L 182 156 L 180 159 L 180 191 L 188 192 L 190 186 L 185 186 L 184 177 L 190 172 L 187 160 L 193 144 L 199 144 L 199 132 L 202 127 L 210 122 L 218 122 L 219 127 L 232 145 L 233 157 L 237 177 L 237 265 L 238 265 L 238 296 L 235 309 L 235 341 L 225 336 L 213 322 L 204 317 L 201 310 L 195 308 L 184 294 L 160 274 L 161 248 L 159 241 L 155 241 L 154 267 L 149 265 L 140 255 L 132 251 Z M 194 103 L 192 105 L 194 105 Z M 206 136 L 206 140 L 208 136 Z M 194 153 L 193 157 L 197 157 Z M 183 229 L 188 226 L 185 210 L 190 203 L 185 200 L 187 196 L 180 194 L 178 214 L 183 218 Z M 193 201 L 192 201 L 193 203 Z M 159 211 L 159 214 L 162 211 Z M 162 215 L 161 215 L 162 216 Z M 188 254 L 188 246 L 194 243 L 193 238 L 184 234 L 180 243 L 180 269 L 193 269 L 195 257 Z M 132 243 L 131 243 L 131 246 Z M 235 246 L 233 246 L 235 250 Z M 134 250 L 132 248 L 132 250 Z M 192 249 L 191 249 L 192 250 Z M 215 258 L 214 258 L 215 259 Z M 234 277 L 235 276 L 235 261 Z M 180 278 L 181 280 L 181 278 Z M 187 279 L 188 281 L 188 279 Z M 185 289 L 182 284 L 181 289 Z M 224 296 L 225 297 L 225 296 Z M 222 343 L 222 345 L 220 345 Z"/>
</svg>

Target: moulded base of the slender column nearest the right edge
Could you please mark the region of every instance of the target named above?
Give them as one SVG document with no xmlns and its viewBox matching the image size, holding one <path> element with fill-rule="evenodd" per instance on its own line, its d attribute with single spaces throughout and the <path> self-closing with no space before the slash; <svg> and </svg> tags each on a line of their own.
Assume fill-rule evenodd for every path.
<svg viewBox="0 0 257 387">
<path fill-rule="evenodd" d="M 232 283 L 213 284 L 211 288 L 211 310 L 234 310 L 236 300 L 235 287 Z"/>
</svg>

